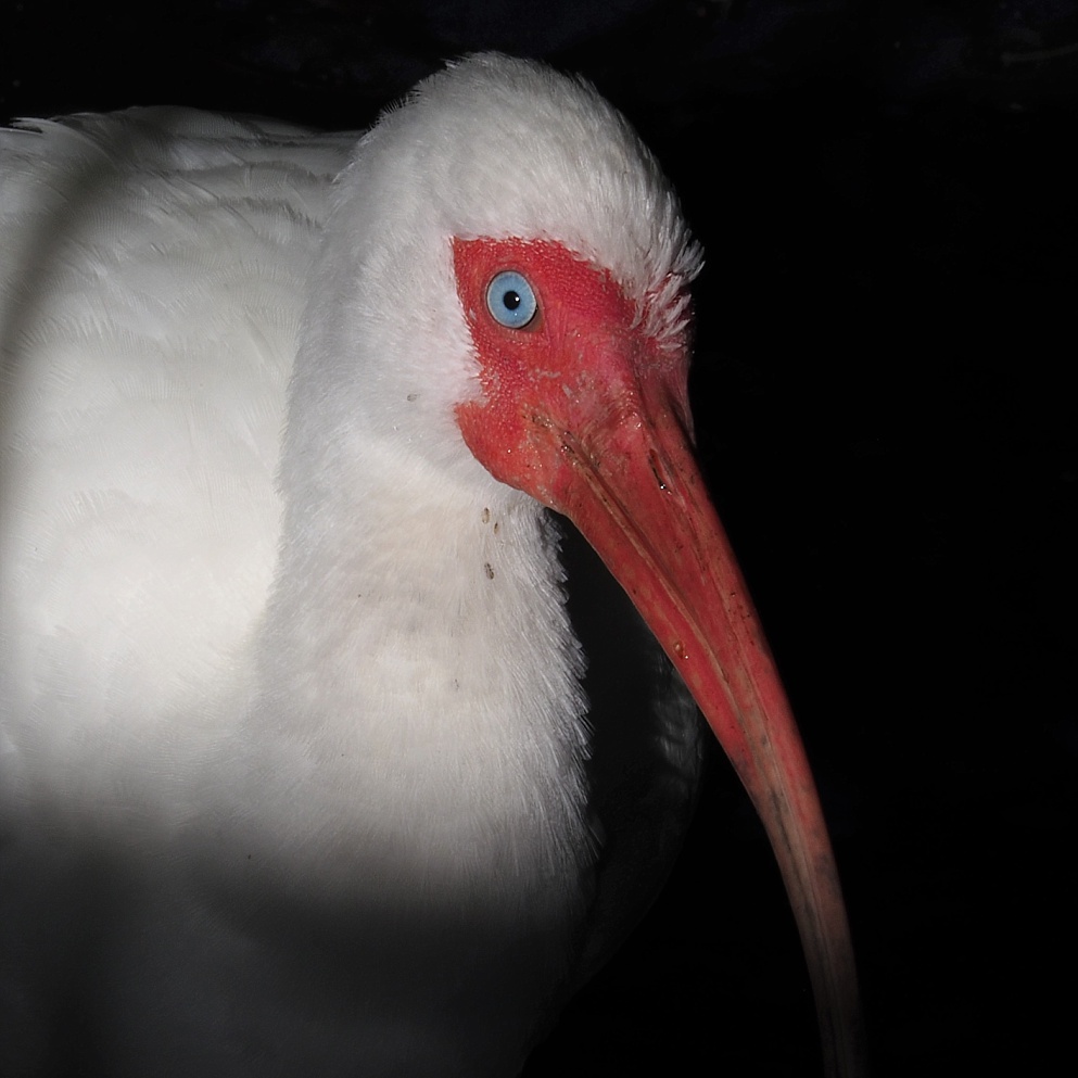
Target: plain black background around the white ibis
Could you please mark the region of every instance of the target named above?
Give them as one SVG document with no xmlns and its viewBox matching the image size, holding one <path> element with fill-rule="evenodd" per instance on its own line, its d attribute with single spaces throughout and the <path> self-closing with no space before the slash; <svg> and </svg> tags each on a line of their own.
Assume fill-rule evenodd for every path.
<svg viewBox="0 0 1078 1078">
<path fill-rule="evenodd" d="M 874 1074 L 1073 1060 L 1074 0 L 0 13 L 3 118 L 363 127 L 480 48 L 592 78 L 708 253 L 701 455 L 832 821 Z M 777 871 L 716 759 L 670 886 L 527 1078 L 819 1067 Z"/>
</svg>

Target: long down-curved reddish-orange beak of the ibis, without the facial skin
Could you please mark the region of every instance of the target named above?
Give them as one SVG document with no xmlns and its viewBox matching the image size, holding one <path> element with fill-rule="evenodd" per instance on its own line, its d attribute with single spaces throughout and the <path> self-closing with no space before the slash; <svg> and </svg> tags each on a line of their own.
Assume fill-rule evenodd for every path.
<svg viewBox="0 0 1078 1078">
<path fill-rule="evenodd" d="M 689 687 L 763 821 L 797 918 L 828 1075 L 863 1073 L 853 949 L 801 738 L 682 409 L 660 377 L 560 442 L 565 512 L 631 596 Z M 586 439 L 586 440 L 585 440 Z"/>
</svg>

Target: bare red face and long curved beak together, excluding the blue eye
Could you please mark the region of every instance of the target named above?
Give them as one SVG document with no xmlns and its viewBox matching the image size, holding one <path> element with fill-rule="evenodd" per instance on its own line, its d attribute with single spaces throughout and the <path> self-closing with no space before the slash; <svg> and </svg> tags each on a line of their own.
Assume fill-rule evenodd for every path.
<svg viewBox="0 0 1078 1078">
<path fill-rule="evenodd" d="M 804 947 L 825 1066 L 862 1074 L 857 975 L 826 824 L 763 631 L 695 462 L 684 340 L 562 245 L 454 240 L 480 393 L 457 407 L 477 459 L 565 513 L 629 593 L 730 757 L 768 829 Z M 500 325 L 503 270 L 538 303 Z"/>
</svg>

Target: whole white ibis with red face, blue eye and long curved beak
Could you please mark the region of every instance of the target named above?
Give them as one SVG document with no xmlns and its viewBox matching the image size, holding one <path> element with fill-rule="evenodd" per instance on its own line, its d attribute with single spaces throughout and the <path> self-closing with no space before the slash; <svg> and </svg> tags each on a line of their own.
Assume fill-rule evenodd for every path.
<svg viewBox="0 0 1078 1078">
<path fill-rule="evenodd" d="M 752 796 L 855 1074 L 826 830 L 693 462 L 700 252 L 622 117 L 478 56 L 358 140 L 135 110 L 0 152 L 0 1070 L 519 1070 L 696 779 L 677 689 L 589 712 L 548 507 Z M 641 716 L 619 846 L 589 747 Z"/>
</svg>

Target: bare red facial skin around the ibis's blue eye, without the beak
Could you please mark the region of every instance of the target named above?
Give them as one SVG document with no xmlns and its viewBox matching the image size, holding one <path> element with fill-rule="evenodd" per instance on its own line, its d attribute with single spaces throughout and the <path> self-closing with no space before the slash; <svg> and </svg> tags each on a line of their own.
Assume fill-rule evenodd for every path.
<svg viewBox="0 0 1078 1078">
<path fill-rule="evenodd" d="M 636 304 L 609 272 L 548 240 L 454 240 L 453 253 L 481 385 L 478 400 L 458 406 L 457 421 L 495 478 L 558 508 L 559 469 L 536 457 L 551 427 L 583 440 L 596 426 L 643 421 L 645 392 L 664 397 L 688 426 L 685 350 L 663 350 L 643 333 Z M 521 274 L 535 293 L 535 316 L 519 329 L 486 306 L 486 289 L 504 270 Z"/>
</svg>

